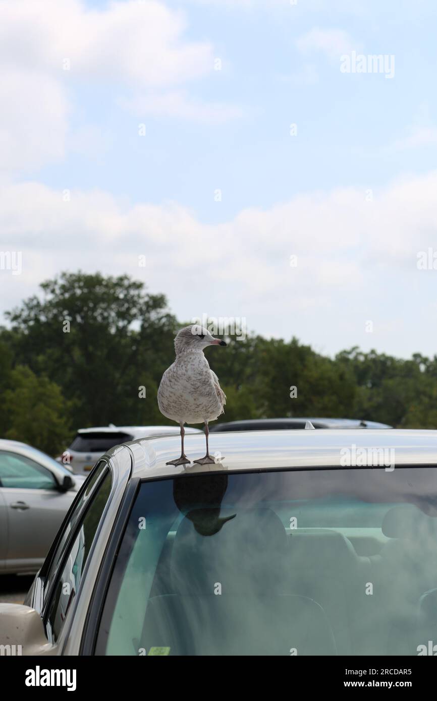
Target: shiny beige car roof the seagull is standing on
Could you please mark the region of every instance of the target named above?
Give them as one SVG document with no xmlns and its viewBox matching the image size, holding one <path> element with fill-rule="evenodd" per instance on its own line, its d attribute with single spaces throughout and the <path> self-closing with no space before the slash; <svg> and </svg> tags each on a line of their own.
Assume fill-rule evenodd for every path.
<svg viewBox="0 0 437 701">
<path fill-rule="evenodd" d="M 361 448 L 368 450 L 369 454 L 385 449 L 386 453 L 380 454 L 380 459 L 384 458 L 383 464 L 389 460 L 395 465 L 437 465 L 437 430 L 229 431 L 211 433 L 209 447 L 211 456 L 222 456 L 221 462 L 210 465 L 191 463 L 185 469 L 182 465 L 166 465 L 169 460 L 180 456 L 180 438 L 176 436 L 131 441 L 111 449 L 107 456 L 116 460 L 119 451 L 130 450 L 134 458 L 132 474 L 144 479 L 241 470 L 344 469 L 347 451 L 351 456 L 354 450 Z M 204 435 L 186 436 L 184 450 L 191 461 L 201 458 L 205 454 Z"/>
</svg>

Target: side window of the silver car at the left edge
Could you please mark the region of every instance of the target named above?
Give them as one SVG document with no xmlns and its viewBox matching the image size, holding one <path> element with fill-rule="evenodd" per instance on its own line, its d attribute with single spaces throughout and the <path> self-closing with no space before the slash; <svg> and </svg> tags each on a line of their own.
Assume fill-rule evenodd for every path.
<svg viewBox="0 0 437 701">
<path fill-rule="evenodd" d="M 0 451 L 0 486 L 5 489 L 57 489 L 50 470 L 18 453 Z"/>
</svg>

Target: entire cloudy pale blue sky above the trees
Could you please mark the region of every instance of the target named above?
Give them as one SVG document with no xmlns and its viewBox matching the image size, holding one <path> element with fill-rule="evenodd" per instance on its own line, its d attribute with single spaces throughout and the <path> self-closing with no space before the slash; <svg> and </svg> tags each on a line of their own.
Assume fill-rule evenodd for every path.
<svg viewBox="0 0 437 701">
<path fill-rule="evenodd" d="M 0 324 L 80 268 L 434 355 L 436 53 L 432 0 L 0 0 Z"/>
</svg>

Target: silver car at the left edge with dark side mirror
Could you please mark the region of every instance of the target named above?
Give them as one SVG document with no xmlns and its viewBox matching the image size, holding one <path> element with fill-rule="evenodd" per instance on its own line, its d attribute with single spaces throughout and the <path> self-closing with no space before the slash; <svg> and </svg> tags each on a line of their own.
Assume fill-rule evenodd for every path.
<svg viewBox="0 0 437 701">
<path fill-rule="evenodd" d="M 40 450 L 0 440 L 0 574 L 39 570 L 82 482 Z"/>
</svg>

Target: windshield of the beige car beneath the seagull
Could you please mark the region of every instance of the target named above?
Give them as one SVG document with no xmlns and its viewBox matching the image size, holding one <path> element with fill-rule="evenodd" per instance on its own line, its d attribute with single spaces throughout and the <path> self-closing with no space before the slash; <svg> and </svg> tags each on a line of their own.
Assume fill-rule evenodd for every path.
<svg viewBox="0 0 437 701">
<path fill-rule="evenodd" d="M 96 653 L 418 655 L 436 536 L 436 468 L 143 482 Z"/>
</svg>

